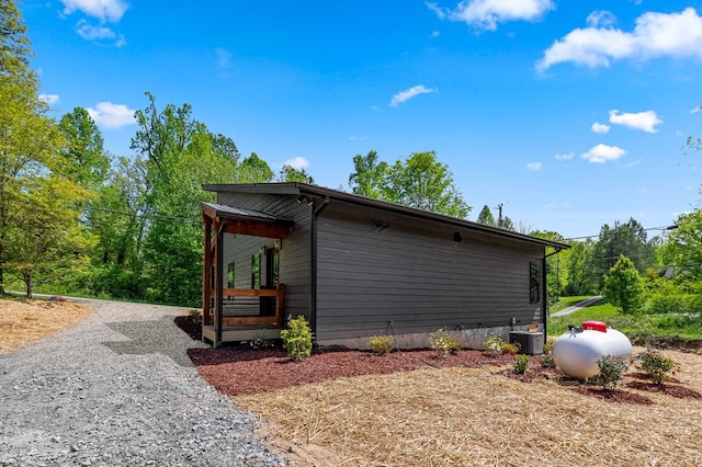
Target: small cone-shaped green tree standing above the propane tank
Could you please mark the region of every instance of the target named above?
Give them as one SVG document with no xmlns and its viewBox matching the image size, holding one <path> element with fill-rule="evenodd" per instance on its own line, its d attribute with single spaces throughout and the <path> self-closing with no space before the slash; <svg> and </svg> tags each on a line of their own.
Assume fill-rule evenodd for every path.
<svg viewBox="0 0 702 467">
<path fill-rule="evenodd" d="M 637 312 L 644 304 L 644 285 L 634 262 L 623 254 L 604 277 L 604 297 L 624 315 Z"/>
</svg>

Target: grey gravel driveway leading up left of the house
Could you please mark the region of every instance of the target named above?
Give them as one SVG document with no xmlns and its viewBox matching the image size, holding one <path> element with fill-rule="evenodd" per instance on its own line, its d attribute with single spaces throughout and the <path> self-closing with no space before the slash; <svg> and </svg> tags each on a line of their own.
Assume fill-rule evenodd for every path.
<svg viewBox="0 0 702 467">
<path fill-rule="evenodd" d="M 256 419 L 192 367 L 182 309 L 95 315 L 0 355 L 1 466 L 281 466 Z"/>
</svg>

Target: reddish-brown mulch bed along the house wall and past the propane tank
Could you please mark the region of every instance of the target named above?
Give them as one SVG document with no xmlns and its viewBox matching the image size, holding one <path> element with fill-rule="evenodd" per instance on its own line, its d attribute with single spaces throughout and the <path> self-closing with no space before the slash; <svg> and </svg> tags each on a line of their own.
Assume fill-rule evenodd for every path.
<svg viewBox="0 0 702 467">
<path fill-rule="evenodd" d="M 176 324 L 192 339 L 201 340 L 202 327 L 194 324 L 189 316 L 177 317 Z M 512 364 L 514 361 L 513 355 L 490 357 L 475 350 L 462 350 L 456 355 L 439 357 L 433 350 L 393 352 L 389 355 L 377 356 L 364 351 L 317 349 L 310 357 L 293 362 L 280 346 L 253 349 L 246 344 L 220 349 L 189 349 L 188 355 L 207 383 L 229 396 L 258 394 L 342 377 L 409 372 L 423 366 L 476 368 L 484 365 Z M 550 378 L 561 378 L 564 381 L 567 379 L 567 385 L 573 385 L 573 390 L 609 402 L 654 403 L 645 396 L 623 389 L 605 390 L 565 378 L 556 368 L 542 368 L 540 357 L 532 357 L 525 374 L 516 374 L 511 369 L 501 373 L 524 383 Z M 644 380 L 648 379 L 645 373 L 632 373 L 627 376 L 639 379 L 626 383 L 627 388 L 664 392 L 679 398 L 702 398 L 702 395 L 693 389 L 670 384 L 680 383 L 677 379 L 661 386 Z"/>
</svg>

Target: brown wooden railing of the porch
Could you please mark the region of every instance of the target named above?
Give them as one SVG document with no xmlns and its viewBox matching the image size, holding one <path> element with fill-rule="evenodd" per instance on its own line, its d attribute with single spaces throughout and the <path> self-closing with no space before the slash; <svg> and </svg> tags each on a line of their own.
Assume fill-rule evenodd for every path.
<svg viewBox="0 0 702 467">
<path fill-rule="evenodd" d="M 285 286 L 283 284 L 278 284 L 276 288 L 224 288 L 222 293 L 225 297 L 258 297 L 259 309 L 261 308 L 261 299 L 263 297 L 275 298 L 274 316 L 261 316 L 260 314 L 223 316 L 222 326 L 276 324 L 279 328 L 283 327 L 283 309 L 285 301 Z M 210 298 L 211 307 L 208 307 L 207 316 L 203 317 L 203 324 L 205 326 L 213 326 L 216 322 L 216 305 L 214 304 L 217 299 L 216 291 L 210 291 Z"/>
</svg>

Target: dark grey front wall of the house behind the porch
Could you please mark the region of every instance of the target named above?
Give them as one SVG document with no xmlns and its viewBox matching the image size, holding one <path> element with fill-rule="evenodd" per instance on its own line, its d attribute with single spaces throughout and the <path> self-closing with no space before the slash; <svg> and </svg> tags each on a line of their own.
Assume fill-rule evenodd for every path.
<svg viewBox="0 0 702 467">
<path fill-rule="evenodd" d="M 303 315 L 309 320 L 312 206 L 297 203 L 293 196 L 249 193 L 218 193 L 217 203 L 274 214 L 294 220 L 295 225 L 293 226 L 292 234 L 282 241 L 279 280 L 281 284 L 285 285 L 285 315 L 292 315 L 293 317 Z M 237 239 L 240 237 L 241 236 L 237 236 Z M 251 239 L 251 237 L 241 238 Z M 261 246 L 271 247 L 274 241 L 274 239 L 264 238 L 253 239 L 259 243 L 247 247 L 247 250 L 250 247 L 253 247 L 253 250 L 242 253 L 248 258 L 244 260 L 236 260 L 236 253 L 234 253 L 235 243 L 231 242 L 233 247 L 230 247 L 229 242 L 225 240 L 224 262 L 227 264 L 235 259 L 235 281 L 237 287 L 251 286 L 251 254 L 258 251 Z M 239 263 L 241 263 L 240 266 Z M 239 274 L 239 267 L 248 272 Z M 239 283 L 239 277 L 241 277 L 241 281 L 246 278 L 247 282 Z"/>
</svg>

